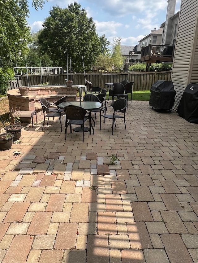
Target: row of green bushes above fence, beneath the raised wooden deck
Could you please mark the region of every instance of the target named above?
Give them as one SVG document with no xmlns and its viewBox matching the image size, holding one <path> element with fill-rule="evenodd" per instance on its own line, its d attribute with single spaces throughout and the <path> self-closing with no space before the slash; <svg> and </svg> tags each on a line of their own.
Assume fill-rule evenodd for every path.
<svg viewBox="0 0 198 263">
<path fill-rule="evenodd" d="M 172 64 L 166 64 L 166 63 L 152 63 L 149 67 L 149 71 L 167 71 L 172 70 Z M 130 65 L 128 68 L 128 71 L 135 71 L 135 72 L 144 72 L 146 71 L 146 63 L 134 63 L 133 65 Z"/>
</svg>

